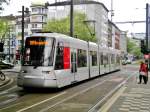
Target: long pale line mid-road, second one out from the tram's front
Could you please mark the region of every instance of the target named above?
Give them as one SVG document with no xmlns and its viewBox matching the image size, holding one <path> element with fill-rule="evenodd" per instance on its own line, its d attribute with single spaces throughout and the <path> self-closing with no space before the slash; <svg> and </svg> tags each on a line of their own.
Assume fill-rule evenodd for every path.
<svg viewBox="0 0 150 112">
<path fill-rule="evenodd" d="M 82 93 L 85 93 L 86 91 L 88 91 L 88 90 L 90 90 L 90 89 L 93 89 L 93 88 L 95 88 L 95 87 L 97 87 L 97 86 L 103 84 L 103 83 L 106 82 L 106 81 L 107 81 L 107 80 L 104 80 L 104 81 L 102 81 L 102 82 L 100 82 L 100 83 L 98 83 L 98 84 L 95 84 L 95 85 L 93 85 L 93 86 L 91 86 L 91 87 L 89 87 L 89 88 L 87 88 L 87 89 L 85 89 L 85 90 L 83 90 L 83 91 L 77 92 L 77 93 L 75 93 L 74 95 L 72 95 L 72 96 L 70 96 L 70 97 L 68 97 L 68 98 L 63 99 L 63 100 L 61 100 L 61 101 L 59 101 L 59 102 L 53 104 L 53 105 L 50 106 L 50 107 L 47 107 L 47 108 L 42 109 L 40 112 L 47 112 L 48 109 L 53 108 L 54 106 L 59 105 L 59 104 L 65 102 L 65 101 L 67 101 L 67 100 L 69 100 L 69 99 L 71 99 L 71 98 L 73 98 L 73 97 L 75 97 L 75 96 L 77 96 L 77 95 L 80 95 L 80 94 L 82 94 Z"/>
</svg>

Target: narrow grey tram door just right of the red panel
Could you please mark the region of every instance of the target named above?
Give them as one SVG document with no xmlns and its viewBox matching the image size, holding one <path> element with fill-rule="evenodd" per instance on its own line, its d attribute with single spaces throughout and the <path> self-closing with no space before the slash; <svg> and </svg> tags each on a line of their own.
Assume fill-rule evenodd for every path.
<svg viewBox="0 0 150 112">
<path fill-rule="evenodd" d="M 77 75 L 77 50 L 76 49 L 71 50 L 71 73 L 73 74 L 74 77 L 73 82 L 76 82 L 76 75 Z"/>
</svg>

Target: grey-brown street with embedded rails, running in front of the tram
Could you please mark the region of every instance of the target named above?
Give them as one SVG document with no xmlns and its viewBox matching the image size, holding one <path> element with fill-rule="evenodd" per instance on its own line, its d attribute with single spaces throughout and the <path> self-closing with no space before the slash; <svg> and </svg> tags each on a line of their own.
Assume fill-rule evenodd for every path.
<svg viewBox="0 0 150 112">
<path fill-rule="evenodd" d="M 17 87 L 17 73 L 9 72 L 10 83 L 0 88 L 0 112 L 87 112 L 137 71 L 136 66 L 128 65 L 121 71 L 63 89 L 30 91 Z"/>
</svg>

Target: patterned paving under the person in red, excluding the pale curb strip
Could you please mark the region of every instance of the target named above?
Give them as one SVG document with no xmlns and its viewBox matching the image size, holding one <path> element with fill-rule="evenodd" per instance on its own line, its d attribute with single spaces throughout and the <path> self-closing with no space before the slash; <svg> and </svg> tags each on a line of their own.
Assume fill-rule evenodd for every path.
<svg viewBox="0 0 150 112">
<path fill-rule="evenodd" d="M 150 112 L 150 81 L 139 85 L 133 80 L 126 83 L 126 90 L 108 112 Z"/>
</svg>

